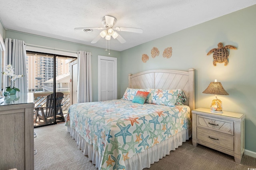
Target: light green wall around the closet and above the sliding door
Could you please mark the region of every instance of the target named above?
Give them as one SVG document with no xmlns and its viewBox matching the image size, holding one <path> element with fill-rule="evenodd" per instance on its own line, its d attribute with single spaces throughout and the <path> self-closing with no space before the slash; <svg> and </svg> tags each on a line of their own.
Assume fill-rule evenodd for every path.
<svg viewBox="0 0 256 170">
<path fill-rule="evenodd" d="M 38 35 L 32 35 L 28 33 L 22 33 L 17 31 L 6 30 L 6 37 L 11 39 L 20 39 L 26 44 L 40 45 L 44 47 L 51 47 L 56 49 L 64 49 L 69 51 L 89 51 L 92 53 L 92 100 L 98 101 L 98 55 L 116 57 L 117 58 L 117 70 L 118 80 L 120 79 L 120 52 L 119 51 L 108 51 L 96 47 L 90 47 L 78 43 L 72 43 L 68 41 L 62 41 L 58 39 L 52 39 L 48 37 L 42 37 Z M 120 83 L 118 82 L 118 96 L 120 96 Z M 120 97 L 119 97 L 120 98 Z"/>
</svg>

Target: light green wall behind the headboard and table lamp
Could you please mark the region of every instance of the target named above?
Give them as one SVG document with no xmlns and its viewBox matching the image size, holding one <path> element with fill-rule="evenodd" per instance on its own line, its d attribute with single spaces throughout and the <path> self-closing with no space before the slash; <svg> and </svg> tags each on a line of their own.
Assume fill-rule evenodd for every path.
<svg viewBox="0 0 256 170">
<path fill-rule="evenodd" d="M 229 96 L 218 96 L 224 111 L 246 114 L 245 149 L 256 152 L 256 5 L 178 31 L 171 35 L 138 45 L 121 52 L 120 92 L 128 86 L 128 74 L 152 70 L 195 69 L 195 105 L 209 108 L 214 95 L 202 94 L 211 81 L 222 83 Z M 172 27 L 171 21 L 170 28 Z M 161 31 L 161 30 L 157 30 Z M 229 63 L 212 64 L 212 55 L 206 54 L 218 43 L 234 45 L 230 50 Z M 157 47 L 160 55 L 151 57 L 151 49 Z M 162 57 L 165 48 L 172 47 L 172 57 Z M 142 54 L 150 59 L 142 62 Z"/>
</svg>

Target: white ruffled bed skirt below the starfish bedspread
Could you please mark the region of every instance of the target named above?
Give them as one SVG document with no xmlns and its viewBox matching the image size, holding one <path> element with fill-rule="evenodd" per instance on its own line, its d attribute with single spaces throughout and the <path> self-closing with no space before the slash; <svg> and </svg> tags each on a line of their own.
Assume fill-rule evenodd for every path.
<svg viewBox="0 0 256 170">
<path fill-rule="evenodd" d="M 102 157 L 98 153 L 97 150 L 93 149 L 92 145 L 89 145 L 84 138 L 79 135 L 75 129 L 70 128 L 68 125 L 68 132 L 73 139 L 75 139 L 76 144 L 78 145 L 79 149 L 84 152 L 84 155 L 88 156 L 88 159 L 95 164 L 96 168 L 100 167 L 100 163 Z M 146 149 L 144 152 L 140 152 L 135 154 L 130 159 L 124 161 L 126 170 L 134 170 L 143 168 L 150 168 L 150 164 L 154 162 L 158 162 L 159 159 L 163 158 L 164 156 L 170 154 L 171 150 L 175 150 L 179 146 L 182 145 L 182 142 L 186 142 L 191 137 L 191 129 L 185 129 L 176 135 L 170 137 L 169 139 L 162 141 L 154 145 L 149 149 Z"/>
</svg>

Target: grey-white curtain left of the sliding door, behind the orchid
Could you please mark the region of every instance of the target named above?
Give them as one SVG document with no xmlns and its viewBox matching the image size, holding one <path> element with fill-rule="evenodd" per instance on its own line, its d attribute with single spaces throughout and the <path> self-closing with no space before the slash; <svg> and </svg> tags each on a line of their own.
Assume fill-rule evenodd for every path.
<svg viewBox="0 0 256 170">
<path fill-rule="evenodd" d="M 26 44 L 24 41 L 6 38 L 4 41 L 6 48 L 5 65 L 12 64 L 16 75 L 23 74 L 22 78 L 15 81 L 15 87 L 21 93 L 28 93 L 28 76 L 26 68 Z M 8 77 L 5 76 L 5 87 L 9 86 Z"/>
</svg>

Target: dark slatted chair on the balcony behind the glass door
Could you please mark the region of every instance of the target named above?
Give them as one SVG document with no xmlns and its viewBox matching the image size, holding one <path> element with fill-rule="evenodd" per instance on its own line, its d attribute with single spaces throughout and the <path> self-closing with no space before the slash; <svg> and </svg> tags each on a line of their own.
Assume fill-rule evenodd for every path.
<svg viewBox="0 0 256 170">
<path fill-rule="evenodd" d="M 63 96 L 64 94 L 61 92 L 56 93 L 56 121 L 64 121 L 64 115 L 61 108 L 61 102 L 64 98 Z M 54 123 L 54 94 L 52 93 L 46 97 L 46 107 L 34 107 L 34 109 L 34 123 L 39 125 Z"/>
</svg>

